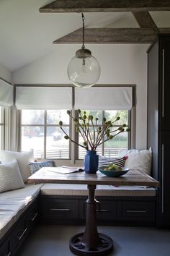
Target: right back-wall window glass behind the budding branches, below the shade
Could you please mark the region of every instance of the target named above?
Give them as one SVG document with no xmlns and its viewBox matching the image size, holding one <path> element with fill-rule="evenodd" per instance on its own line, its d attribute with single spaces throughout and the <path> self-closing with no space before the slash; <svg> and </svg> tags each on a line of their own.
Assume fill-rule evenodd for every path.
<svg viewBox="0 0 170 256">
<path fill-rule="evenodd" d="M 82 111 L 83 112 L 83 111 Z M 92 115 L 95 117 L 98 117 L 99 121 L 97 123 L 97 126 L 99 127 L 100 124 L 102 124 L 102 119 L 105 117 L 107 120 L 114 120 L 117 118 L 117 116 L 120 116 L 120 120 L 117 121 L 114 125 L 114 127 L 120 127 L 122 124 L 127 124 L 127 126 L 130 128 L 130 111 L 128 110 L 120 110 L 120 111 L 88 111 L 86 110 L 86 115 Z M 118 155 L 119 151 L 124 148 L 129 148 L 130 146 L 130 140 L 129 140 L 130 134 L 128 132 L 123 132 L 120 135 L 117 135 L 112 140 L 108 140 L 107 142 L 104 142 L 104 144 L 100 145 L 97 148 L 97 153 L 99 155 L 104 156 L 116 156 Z M 81 135 L 79 135 L 79 143 L 81 144 L 83 142 Z M 84 158 L 86 150 L 84 148 L 81 148 L 79 146 L 79 159 Z"/>
</svg>

